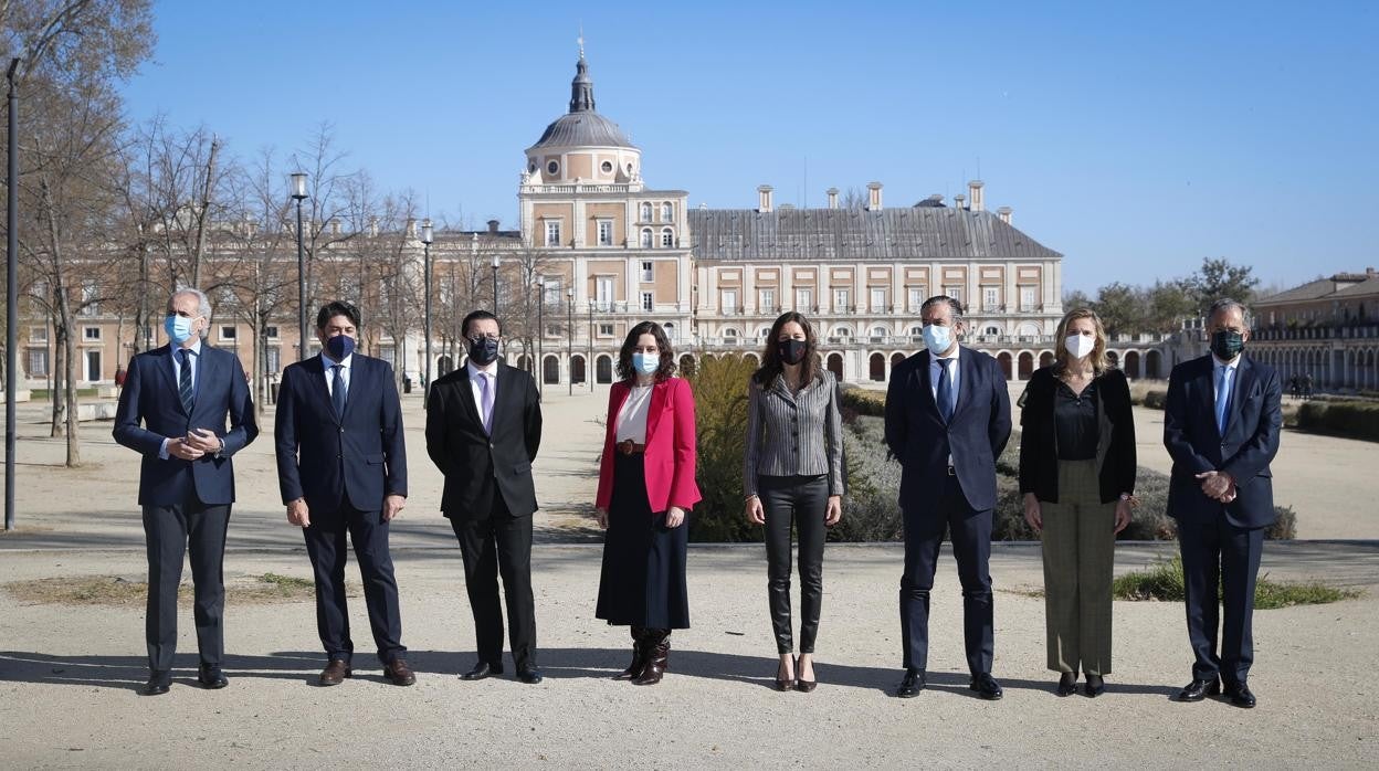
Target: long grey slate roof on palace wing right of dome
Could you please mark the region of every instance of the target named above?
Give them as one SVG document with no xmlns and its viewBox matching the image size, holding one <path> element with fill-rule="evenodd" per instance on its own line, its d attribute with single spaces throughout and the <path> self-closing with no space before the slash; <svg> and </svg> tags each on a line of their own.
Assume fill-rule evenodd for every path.
<svg viewBox="0 0 1379 771">
<path fill-rule="evenodd" d="M 695 257 L 797 259 L 1060 259 L 990 211 L 963 208 L 691 210 Z"/>
</svg>

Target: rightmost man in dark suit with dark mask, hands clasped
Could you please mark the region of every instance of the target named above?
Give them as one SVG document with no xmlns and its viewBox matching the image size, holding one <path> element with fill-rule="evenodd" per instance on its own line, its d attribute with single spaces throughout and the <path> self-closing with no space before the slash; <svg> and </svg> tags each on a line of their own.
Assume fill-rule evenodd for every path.
<svg viewBox="0 0 1379 771">
<path fill-rule="evenodd" d="M 1219 299 L 1207 320 L 1211 353 L 1174 367 L 1164 408 L 1164 445 L 1174 457 L 1168 514 L 1178 520 L 1196 659 L 1178 699 L 1216 695 L 1225 681 L 1233 705 L 1252 708 L 1251 617 L 1265 528 L 1277 517 L 1269 463 L 1284 422 L 1282 383 L 1244 354 L 1249 324 L 1241 303 Z M 1218 655 L 1219 601 L 1226 618 Z"/>
</svg>

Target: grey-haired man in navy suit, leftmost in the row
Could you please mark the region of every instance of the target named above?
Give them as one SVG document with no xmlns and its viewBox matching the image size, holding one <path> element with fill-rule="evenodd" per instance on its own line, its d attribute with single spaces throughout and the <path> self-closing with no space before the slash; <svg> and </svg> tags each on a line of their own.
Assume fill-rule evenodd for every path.
<svg viewBox="0 0 1379 771">
<path fill-rule="evenodd" d="M 168 345 L 130 361 L 114 415 L 114 440 L 143 455 L 139 506 L 149 553 L 145 694 L 168 692 L 177 650 L 182 554 L 192 553 L 196 588 L 197 681 L 223 688 L 225 531 L 234 502 L 230 457 L 258 436 L 240 360 L 203 343 L 211 303 L 197 290 L 168 299 Z M 143 423 L 142 426 L 139 423 Z M 226 428 L 229 423 L 229 428 Z"/>
</svg>

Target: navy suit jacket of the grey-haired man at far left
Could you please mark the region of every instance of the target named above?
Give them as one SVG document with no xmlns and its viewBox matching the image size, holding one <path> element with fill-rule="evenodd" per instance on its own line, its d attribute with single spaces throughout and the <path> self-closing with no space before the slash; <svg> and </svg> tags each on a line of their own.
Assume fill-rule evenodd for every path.
<svg viewBox="0 0 1379 771">
<path fill-rule="evenodd" d="M 167 345 L 130 360 L 114 440 L 143 455 L 139 468 L 139 505 L 172 506 L 192 495 L 201 503 L 234 502 L 234 465 L 230 457 L 258 436 L 258 418 L 237 356 L 201 343 L 196 404 L 188 415 L 172 377 L 172 349 Z M 143 423 L 142 426 L 139 423 Z M 225 440 L 221 457 L 196 461 L 159 458 L 163 440 L 211 429 Z"/>
</svg>

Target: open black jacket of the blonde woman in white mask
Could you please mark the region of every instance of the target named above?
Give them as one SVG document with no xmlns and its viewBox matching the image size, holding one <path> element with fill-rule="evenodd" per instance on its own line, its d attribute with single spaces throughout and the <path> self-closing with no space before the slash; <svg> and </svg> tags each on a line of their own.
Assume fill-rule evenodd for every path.
<svg viewBox="0 0 1379 771">
<path fill-rule="evenodd" d="M 1106 370 L 1096 378 L 1096 461 L 1102 503 L 1135 492 L 1135 414 L 1125 372 Z M 1020 397 L 1020 492 L 1058 503 L 1058 428 L 1054 422 L 1059 379 L 1054 367 L 1030 375 Z"/>
</svg>

